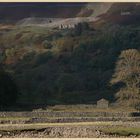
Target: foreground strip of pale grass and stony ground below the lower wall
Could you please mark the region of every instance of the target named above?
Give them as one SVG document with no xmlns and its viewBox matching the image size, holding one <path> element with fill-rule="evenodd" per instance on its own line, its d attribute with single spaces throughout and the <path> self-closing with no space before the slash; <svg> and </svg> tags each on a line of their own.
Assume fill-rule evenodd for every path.
<svg viewBox="0 0 140 140">
<path fill-rule="evenodd" d="M 140 122 L 80 122 L 0 125 L 3 138 L 140 137 Z"/>
</svg>

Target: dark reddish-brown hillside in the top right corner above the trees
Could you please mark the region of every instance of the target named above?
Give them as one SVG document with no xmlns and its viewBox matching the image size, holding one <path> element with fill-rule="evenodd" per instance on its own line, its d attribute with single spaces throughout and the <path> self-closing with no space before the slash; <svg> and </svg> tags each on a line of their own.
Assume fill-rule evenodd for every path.
<svg viewBox="0 0 140 140">
<path fill-rule="evenodd" d="M 139 24 L 139 13 L 139 3 L 114 3 L 106 13 L 100 15 L 101 20 L 98 23 L 104 21 L 120 25 Z"/>
</svg>

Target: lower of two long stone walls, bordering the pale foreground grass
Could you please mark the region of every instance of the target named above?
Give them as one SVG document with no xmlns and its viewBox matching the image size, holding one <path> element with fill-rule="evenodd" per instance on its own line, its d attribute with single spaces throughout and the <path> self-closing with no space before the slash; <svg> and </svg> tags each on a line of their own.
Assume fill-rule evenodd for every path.
<svg viewBox="0 0 140 140">
<path fill-rule="evenodd" d="M 26 120 L 0 120 L 0 124 L 31 123 L 73 123 L 73 122 L 140 122 L 140 117 L 69 117 L 69 118 L 29 118 Z"/>
</svg>

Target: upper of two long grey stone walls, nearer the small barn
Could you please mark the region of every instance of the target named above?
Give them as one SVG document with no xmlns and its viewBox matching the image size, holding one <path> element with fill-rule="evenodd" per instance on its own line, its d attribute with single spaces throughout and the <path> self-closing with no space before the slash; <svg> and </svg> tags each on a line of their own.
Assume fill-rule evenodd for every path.
<svg viewBox="0 0 140 140">
<path fill-rule="evenodd" d="M 125 112 L 0 112 L 0 117 L 128 117 Z M 134 113 L 133 113 L 134 116 Z"/>
</svg>

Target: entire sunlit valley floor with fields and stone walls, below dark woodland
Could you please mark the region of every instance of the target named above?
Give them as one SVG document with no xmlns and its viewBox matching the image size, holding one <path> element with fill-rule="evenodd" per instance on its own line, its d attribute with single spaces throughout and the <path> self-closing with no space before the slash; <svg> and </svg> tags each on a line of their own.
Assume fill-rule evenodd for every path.
<svg viewBox="0 0 140 140">
<path fill-rule="evenodd" d="M 140 137 L 140 113 L 94 105 L 50 106 L 32 111 L 1 111 L 2 138 Z"/>
</svg>

